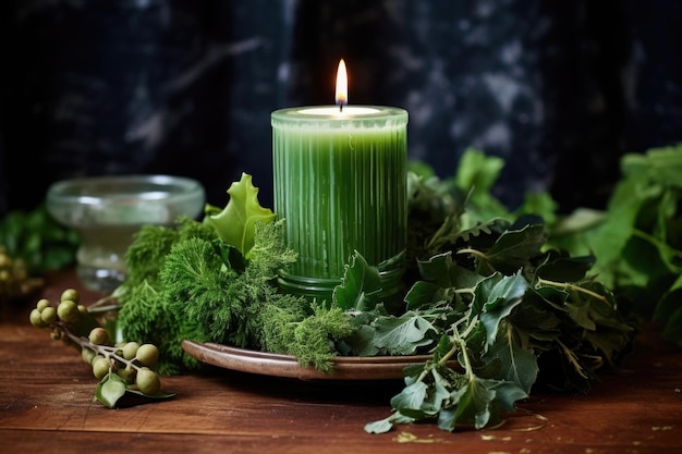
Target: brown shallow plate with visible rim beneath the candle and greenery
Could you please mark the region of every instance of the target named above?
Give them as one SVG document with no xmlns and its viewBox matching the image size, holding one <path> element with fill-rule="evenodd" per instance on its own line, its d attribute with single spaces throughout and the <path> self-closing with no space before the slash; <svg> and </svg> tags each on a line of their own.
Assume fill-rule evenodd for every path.
<svg viewBox="0 0 682 454">
<path fill-rule="evenodd" d="M 256 352 L 228 345 L 183 341 L 182 348 L 202 363 L 223 369 L 300 380 L 400 380 L 406 366 L 423 364 L 430 355 L 342 356 L 334 358 L 334 372 L 301 367 L 295 356 Z"/>
</svg>

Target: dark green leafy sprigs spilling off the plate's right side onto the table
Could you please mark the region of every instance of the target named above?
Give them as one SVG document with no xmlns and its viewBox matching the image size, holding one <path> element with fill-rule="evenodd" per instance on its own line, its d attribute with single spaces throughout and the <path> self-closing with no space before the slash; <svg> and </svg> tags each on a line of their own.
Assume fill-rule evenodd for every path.
<svg viewBox="0 0 682 454">
<path fill-rule="evenodd" d="M 594 259 L 548 247 L 549 228 L 541 219 L 502 217 L 484 230 L 470 220 L 446 220 L 452 216 L 459 214 L 443 213 L 443 222 L 436 222 L 438 242 L 414 235 L 426 238 L 414 256 L 429 258 L 417 260 L 419 278 L 405 297 L 409 310 L 390 316 L 398 324 L 407 322 L 409 312 L 414 320 L 442 310 L 430 330 L 411 326 L 417 352 L 428 351 L 433 359 L 405 370 L 405 388 L 391 400 L 394 412 L 368 424 L 368 432 L 419 420 L 435 420 L 443 430 L 480 429 L 513 412 L 533 386 L 587 391 L 596 370 L 614 365 L 637 332 L 613 295 L 588 274 Z M 468 225 L 464 232 L 463 225 Z M 373 329 L 382 317 L 377 309 L 368 317 L 365 344 L 376 346 Z"/>
</svg>

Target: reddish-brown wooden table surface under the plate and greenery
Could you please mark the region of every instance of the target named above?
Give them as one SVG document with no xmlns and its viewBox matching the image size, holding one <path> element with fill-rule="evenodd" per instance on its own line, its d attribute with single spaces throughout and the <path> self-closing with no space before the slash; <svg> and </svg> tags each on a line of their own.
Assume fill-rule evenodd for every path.
<svg viewBox="0 0 682 454">
<path fill-rule="evenodd" d="M 48 282 L 57 300 L 73 273 Z M 96 295 L 82 291 L 86 303 Z M 88 299 L 89 298 L 89 299 Z M 172 401 L 107 409 L 77 352 L 2 308 L 0 452 L 7 453 L 682 453 L 682 351 L 647 326 L 620 370 L 587 395 L 535 392 L 490 430 L 407 425 L 367 434 L 400 383 L 300 382 L 208 367 L 163 378 Z"/>
</svg>

